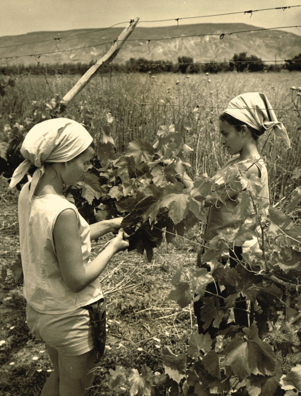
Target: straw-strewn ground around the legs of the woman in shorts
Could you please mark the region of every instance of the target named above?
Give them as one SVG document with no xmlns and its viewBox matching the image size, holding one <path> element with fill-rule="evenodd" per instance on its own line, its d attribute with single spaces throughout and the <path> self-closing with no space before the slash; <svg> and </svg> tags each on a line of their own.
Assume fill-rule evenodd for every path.
<svg viewBox="0 0 301 396">
<path fill-rule="evenodd" d="M 36 396 L 52 367 L 45 344 L 35 340 L 26 325 L 25 300 L 20 271 L 17 198 L 0 178 L 0 395 Z M 89 395 L 129 395 L 128 383 L 121 391 L 110 387 L 110 369 L 122 366 L 129 374 L 146 364 L 163 372 L 162 347 L 181 353 L 196 331 L 190 307 L 181 309 L 168 298 L 171 279 L 180 266 L 193 266 L 196 251 L 177 238 L 154 250 L 148 262 L 135 251 L 120 252 L 101 274 L 107 297 L 107 344 L 97 367 L 97 380 Z M 96 254 L 106 238 L 92 245 Z M 121 393 L 120 393 L 121 392 Z"/>
</svg>

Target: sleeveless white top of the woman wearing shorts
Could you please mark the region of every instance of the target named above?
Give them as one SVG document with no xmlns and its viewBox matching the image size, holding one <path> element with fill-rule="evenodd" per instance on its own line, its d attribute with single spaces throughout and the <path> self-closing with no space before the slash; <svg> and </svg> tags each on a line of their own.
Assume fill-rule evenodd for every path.
<svg viewBox="0 0 301 396">
<path fill-rule="evenodd" d="M 90 227 L 75 205 L 65 197 L 47 194 L 29 200 L 29 185 L 18 199 L 20 251 L 24 273 L 24 297 L 36 311 L 49 314 L 71 312 L 103 297 L 98 279 L 78 293 L 65 284 L 53 239 L 54 226 L 65 209 L 74 210 L 78 220 L 83 265 L 89 262 Z"/>
</svg>

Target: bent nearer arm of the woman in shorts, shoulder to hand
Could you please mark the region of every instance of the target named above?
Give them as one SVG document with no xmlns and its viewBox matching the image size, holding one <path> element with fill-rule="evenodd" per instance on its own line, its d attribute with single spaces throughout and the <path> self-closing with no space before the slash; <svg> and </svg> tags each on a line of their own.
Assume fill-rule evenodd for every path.
<svg viewBox="0 0 301 396">
<path fill-rule="evenodd" d="M 74 293 L 80 292 L 93 282 L 106 268 L 113 255 L 128 246 L 120 229 L 118 235 L 104 250 L 84 266 L 77 217 L 72 209 L 60 213 L 53 234 L 63 280 Z"/>
</svg>

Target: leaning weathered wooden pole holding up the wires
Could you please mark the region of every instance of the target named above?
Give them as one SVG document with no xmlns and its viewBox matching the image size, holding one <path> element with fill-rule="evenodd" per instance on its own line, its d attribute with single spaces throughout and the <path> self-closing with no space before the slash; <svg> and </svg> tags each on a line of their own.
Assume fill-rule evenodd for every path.
<svg viewBox="0 0 301 396">
<path fill-rule="evenodd" d="M 103 65 L 104 63 L 109 63 L 111 60 L 115 58 L 118 54 L 120 48 L 123 46 L 129 35 L 135 29 L 139 18 L 136 20 L 131 20 L 129 25 L 121 32 L 119 37 L 115 40 L 113 46 L 109 49 L 109 51 L 100 58 L 93 66 L 90 67 L 89 70 L 86 71 L 84 75 L 77 81 L 77 83 L 70 89 L 69 92 L 61 99 L 60 104 L 61 107 L 65 107 L 67 103 L 73 99 L 91 80 L 93 74 L 97 71 L 97 69 Z"/>
</svg>

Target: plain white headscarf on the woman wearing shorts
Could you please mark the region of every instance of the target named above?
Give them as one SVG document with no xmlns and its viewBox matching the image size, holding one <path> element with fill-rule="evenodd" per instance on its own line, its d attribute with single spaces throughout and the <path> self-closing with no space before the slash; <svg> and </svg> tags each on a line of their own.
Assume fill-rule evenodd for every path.
<svg viewBox="0 0 301 396">
<path fill-rule="evenodd" d="M 34 164 L 38 169 L 31 180 L 29 198 L 45 172 L 44 162 L 67 162 L 82 153 L 93 141 L 89 132 L 68 118 L 54 118 L 33 126 L 20 152 L 25 160 L 13 172 L 9 188 L 19 183 Z"/>
</svg>

